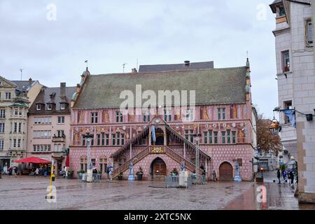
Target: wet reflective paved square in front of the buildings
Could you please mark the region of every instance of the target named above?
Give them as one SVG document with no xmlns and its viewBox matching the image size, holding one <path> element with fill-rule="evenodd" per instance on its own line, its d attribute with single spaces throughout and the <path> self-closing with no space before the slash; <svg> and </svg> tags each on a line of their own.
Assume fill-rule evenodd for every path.
<svg viewBox="0 0 315 224">
<path fill-rule="evenodd" d="M 0 209 L 315 209 L 299 207 L 294 190 L 276 183 L 265 184 L 269 192 L 265 204 L 256 202 L 258 192 L 251 182 L 209 182 L 186 190 L 160 188 L 162 182 L 56 179 L 56 203 L 45 200 L 48 184 L 44 177 L 3 176 Z"/>
</svg>

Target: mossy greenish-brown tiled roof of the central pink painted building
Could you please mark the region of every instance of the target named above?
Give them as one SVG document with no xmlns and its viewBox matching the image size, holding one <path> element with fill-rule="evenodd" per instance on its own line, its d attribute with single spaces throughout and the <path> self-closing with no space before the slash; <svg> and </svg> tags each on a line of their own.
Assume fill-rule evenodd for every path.
<svg viewBox="0 0 315 224">
<path fill-rule="evenodd" d="M 113 73 L 87 76 L 73 108 L 119 108 L 123 90 L 135 96 L 136 85 L 142 92 L 153 90 L 195 90 L 196 104 L 246 102 L 246 66 L 226 69 L 200 69 L 156 73 Z M 134 97 L 135 98 L 135 97 Z M 135 100 L 135 99 L 134 99 Z M 142 100 L 146 102 L 146 100 Z M 135 105 L 135 104 L 134 104 Z"/>
</svg>

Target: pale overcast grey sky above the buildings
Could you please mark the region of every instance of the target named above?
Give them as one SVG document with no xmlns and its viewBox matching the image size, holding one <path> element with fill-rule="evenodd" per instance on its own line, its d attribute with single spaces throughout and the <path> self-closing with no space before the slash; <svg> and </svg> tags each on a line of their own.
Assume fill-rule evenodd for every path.
<svg viewBox="0 0 315 224">
<path fill-rule="evenodd" d="M 278 106 L 272 0 L 0 0 L 0 75 L 48 87 L 74 86 L 88 59 L 92 74 L 139 64 L 251 62 L 253 104 Z M 54 8 L 56 10 L 54 10 Z M 56 13 L 54 13 L 56 12 Z"/>
</svg>

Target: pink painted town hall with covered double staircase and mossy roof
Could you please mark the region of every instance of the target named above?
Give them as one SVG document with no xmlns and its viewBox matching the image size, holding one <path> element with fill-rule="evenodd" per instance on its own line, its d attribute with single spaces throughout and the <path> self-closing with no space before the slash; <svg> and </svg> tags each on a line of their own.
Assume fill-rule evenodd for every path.
<svg viewBox="0 0 315 224">
<path fill-rule="evenodd" d="M 70 167 L 75 174 L 87 169 L 87 133 L 93 135 L 94 167 L 106 172 L 106 167 L 113 166 L 114 177 L 123 172 L 127 178 L 132 162 L 134 174 L 141 167 L 144 179 L 169 175 L 173 169 L 180 171 L 182 162 L 190 173 L 194 172 L 193 135 L 201 134 L 199 167 L 207 171 L 209 179 L 216 171 L 218 179 L 232 180 L 235 163 L 239 162 L 241 179 L 251 181 L 255 136 L 249 62 L 225 69 L 188 69 L 189 66 L 186 63 L 176 71 L 148 71 L 146 67 L 146 72 L 83 72 L 71 99 Z M 173 95 L 171 103 L 161 105 L 157 101 L 144 110 L 148 94 L 158 96 L 159 90 L 172 94 L 178 90 L 182 104 L 176 104 Z M 183 106 L 183 92 L 188 92 L 189 104 L 194 90 L 195 107 Z M 134 96 L 134 106 L 122 113 L 120 106 L 126 96 Z"/>
</svg>

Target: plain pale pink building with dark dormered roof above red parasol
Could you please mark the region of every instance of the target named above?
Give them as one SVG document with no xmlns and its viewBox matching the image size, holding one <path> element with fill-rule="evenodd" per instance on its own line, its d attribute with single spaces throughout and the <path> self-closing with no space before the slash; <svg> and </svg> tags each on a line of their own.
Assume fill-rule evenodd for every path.
<svg viewBox="0 0 315 224">
<path fill-rule="evenodd" d="M 70 143 L 71 96 L 76 87 L 42 87 L 28 113 L 27 157 L 54 160 L 55 174 L 64 167 Z"/>
</svg>

